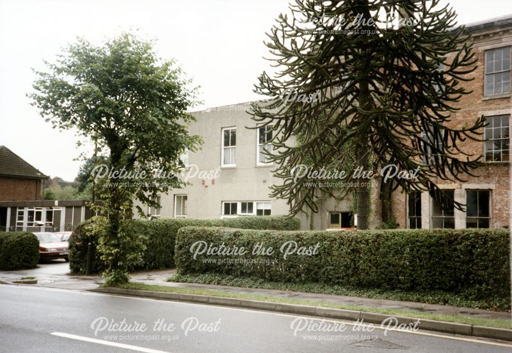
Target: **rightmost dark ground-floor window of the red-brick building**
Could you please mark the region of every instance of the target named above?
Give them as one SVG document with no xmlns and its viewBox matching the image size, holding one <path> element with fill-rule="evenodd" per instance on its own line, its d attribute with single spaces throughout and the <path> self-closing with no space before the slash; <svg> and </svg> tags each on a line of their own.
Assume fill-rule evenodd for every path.
<svg viewBox="0 0 512 353">
<path fill-rule="evenodd" d="M 490 226 L 490 191 L 466 190 L 466 228 Z"/>
</svg>

